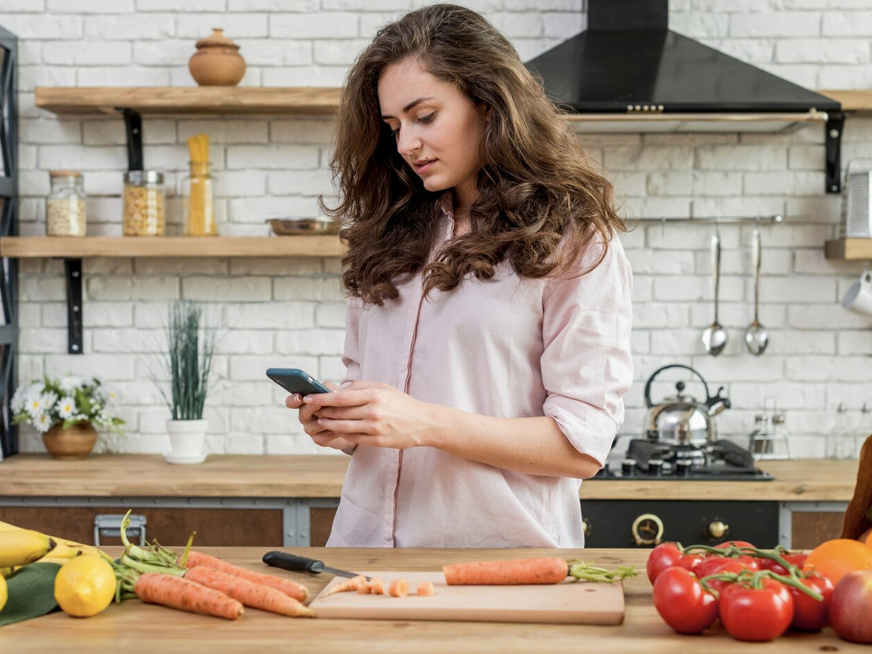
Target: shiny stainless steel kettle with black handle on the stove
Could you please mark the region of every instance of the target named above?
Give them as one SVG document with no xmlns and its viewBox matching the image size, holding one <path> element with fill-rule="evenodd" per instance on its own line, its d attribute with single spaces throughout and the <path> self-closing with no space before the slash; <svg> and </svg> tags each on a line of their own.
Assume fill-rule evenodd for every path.
<svg viewBox="0 0 872 654">
<path fill-rule="evenodd" d="M 693 372 L 702 381 L 706 390 L 706 401 L 698 402 L 693 397 L 684 394 L 685 384 L 679 381 L 675 384 L 675 397 L 665 398 L 661 403 L 651 401 L 651 382 L 660 372 L 669 368 L 684 368 Z M 729 400 L 721 395 L 724 387 L 711 397 L 708 395 L 708 384 L 699 372 L 680 363 L 663 366 L 649 377 L 645 384 L 645 405 L 648 413 L 645 416 L 645 438 L 669 445 L 704 445 L 717 440 L 717 431 L 713 418 L 721 411 L 729 409 Z"/>
</svg>

